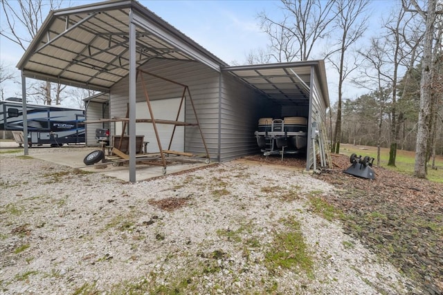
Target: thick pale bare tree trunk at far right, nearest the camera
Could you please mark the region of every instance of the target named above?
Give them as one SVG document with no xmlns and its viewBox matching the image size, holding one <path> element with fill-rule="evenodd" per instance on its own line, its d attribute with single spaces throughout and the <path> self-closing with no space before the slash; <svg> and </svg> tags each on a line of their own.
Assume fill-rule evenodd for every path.
<svg viewBox="0 0 443 295">
<path fill-rule="evenodd" d="M 426 20 L 426 30 L 424 34 L 424 50 L 422 58 L 422 80 L 420 82 L 420 111 L 418 117 L 417 144 L 415 147 L 415 166 L 414 176 L 417 178 L 426 178 L 426 162 L 428 153 L 429 137 L 431 135 L 431 106 L 432 106 L 432 78 L 433 61 L 437 48 L 441 44 L 435 44 L 434 37 L 437 34 L 435 26 L 435 16 L 437 0 L 428 0 L 427 10 L 422 9 L 417 1 L 411 0 L 415 11 Z"/>
</svg>

